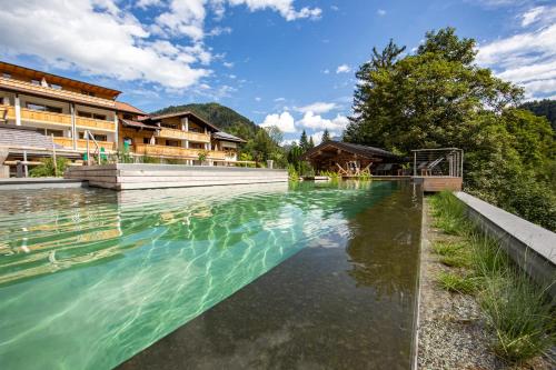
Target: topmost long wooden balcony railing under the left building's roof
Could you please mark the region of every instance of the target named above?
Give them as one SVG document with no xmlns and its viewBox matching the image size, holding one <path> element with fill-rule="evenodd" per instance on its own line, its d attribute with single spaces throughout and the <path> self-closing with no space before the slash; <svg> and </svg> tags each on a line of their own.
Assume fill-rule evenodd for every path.
<svg viewBox="0 0 556 370">
<path fill-rule="evenodd" d="M 28 92 L 34 96 L 41 96 L 46 98 L 53 98 L 58 100 L 66 100 L 72 102 L 81 102 L 86 104 L 92 104 L 96 107 L 111 108 L 116 109 L 116 102 L 113 100 L 97 98 L 86 96 L 83 93 L 78 93 L 68 90 L 57 90 L 52 88 L 46 88 L 42 86 L 32 84 L 30 82 L 20 81 L 16 79 L 7 79 L 0 77 L 0 88 L 19 91 L 19 92 Z"/>
</svg>

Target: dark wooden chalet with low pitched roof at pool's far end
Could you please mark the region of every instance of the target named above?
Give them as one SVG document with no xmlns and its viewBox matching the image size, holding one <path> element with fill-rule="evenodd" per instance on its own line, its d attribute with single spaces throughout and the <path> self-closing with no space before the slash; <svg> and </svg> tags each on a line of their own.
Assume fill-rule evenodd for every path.
<svg viewBox="0 0 556 370">
<path fill-rule="evenodd" d="M 340 176 L 399 174 L 406 160 L 384 149 L 349 142 L 326 141 L 308 150 L 301 158 L 317 172 L 332 171 Z"/>
</svg>

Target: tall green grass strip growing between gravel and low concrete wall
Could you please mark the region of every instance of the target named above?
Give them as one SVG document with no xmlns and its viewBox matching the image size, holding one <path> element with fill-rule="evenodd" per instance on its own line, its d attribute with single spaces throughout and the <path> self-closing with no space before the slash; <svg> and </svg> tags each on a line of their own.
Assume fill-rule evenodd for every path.
<svg viewBox="0 0 556 370">
<path fill-rule="evenodd" d="M 496 333 L 494 351 L 512 362 L 545 353 L 556 344 L 555 301 L 502 249 L 465 218 L 464 204 L 449 192 L 430 198 L 435 227 L 460 242 L 438 241 L 431 248 L 440 262 L 466 273 L 441 272 L 438 284 L 450 292 L 477 296 Z M 556 283 L 556 279 L 553 283 Z"/>
</svg>

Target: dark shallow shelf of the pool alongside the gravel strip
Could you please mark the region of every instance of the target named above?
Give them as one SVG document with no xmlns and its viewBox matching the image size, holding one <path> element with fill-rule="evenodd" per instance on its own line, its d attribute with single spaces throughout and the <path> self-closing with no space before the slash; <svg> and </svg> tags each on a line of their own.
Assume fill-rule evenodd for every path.
<svg viewBox="0 0 556 370">
<path fill-rule="evenodd" d="M 409 369 L 420 199 L 404 183 L 376 186 L 385 192 L 371 207 L 369 192 L 347 194 L 336 229 L 121 370 Z"/>
</svg>

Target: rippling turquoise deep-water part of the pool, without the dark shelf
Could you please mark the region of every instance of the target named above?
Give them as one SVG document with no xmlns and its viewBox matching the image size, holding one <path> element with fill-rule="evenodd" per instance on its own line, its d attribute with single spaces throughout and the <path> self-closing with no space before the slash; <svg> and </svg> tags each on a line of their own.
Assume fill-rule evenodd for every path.
<svg viewBox="0 0 556 370">
<path fill-rule="evenodd" d="M 396 190 L 0 191 L 1 367 L 110 369 Z"/>
</svg>

